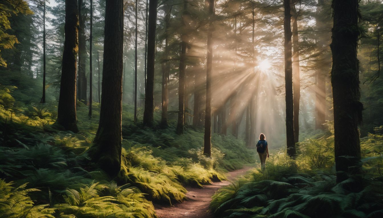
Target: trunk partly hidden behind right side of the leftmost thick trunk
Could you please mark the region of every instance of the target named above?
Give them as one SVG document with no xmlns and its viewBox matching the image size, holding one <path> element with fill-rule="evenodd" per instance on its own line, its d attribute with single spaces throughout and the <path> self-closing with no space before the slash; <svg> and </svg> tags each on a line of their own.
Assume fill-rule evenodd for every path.
<svg viewBox="0 0 383 218">
<path fill-rule="evenodd" d="M 83 0 L 79 0 L 79 100 L 87 104 L 87 76 L 85 72 L 87 60 L 85 18 L 82 9 L 85 9 Z"/>
</svg>

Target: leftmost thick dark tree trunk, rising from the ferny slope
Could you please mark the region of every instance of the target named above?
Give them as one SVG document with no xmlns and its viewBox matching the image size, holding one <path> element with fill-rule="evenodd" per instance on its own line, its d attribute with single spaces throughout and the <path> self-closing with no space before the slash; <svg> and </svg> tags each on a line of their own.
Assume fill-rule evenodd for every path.
<svg viewBox="0 0 383 218">
<path fill-rule="evenodd" d="M 62 52 L 62 69 L 59 106 L 56 124 L 65 130 L 78 132 L 76 116 L 76 73 L 79 15 L 77 0 L 65 1 L 65 42 Z"/>
</svg>

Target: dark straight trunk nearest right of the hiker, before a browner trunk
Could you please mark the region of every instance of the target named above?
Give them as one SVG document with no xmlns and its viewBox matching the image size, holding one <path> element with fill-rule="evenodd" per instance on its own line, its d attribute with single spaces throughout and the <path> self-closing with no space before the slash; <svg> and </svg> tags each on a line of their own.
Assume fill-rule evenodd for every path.
<svg viewBox="0 0 383 218">
<path fill-rule="evenodd" d="M 294 134 L 294 102 L 293 102 L 293 72 L 291 61 L 291 15 L 290 0 L 284 0 L 285 19 L 283 22 L 285 32 L 285 90 L 286 90 L 286 141 L 287 155 L 295 157 Z"/>
</svg>

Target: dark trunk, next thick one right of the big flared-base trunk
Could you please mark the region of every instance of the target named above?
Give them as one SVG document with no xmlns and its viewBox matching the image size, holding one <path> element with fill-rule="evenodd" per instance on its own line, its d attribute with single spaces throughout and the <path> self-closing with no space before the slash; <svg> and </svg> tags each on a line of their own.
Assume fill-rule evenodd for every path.
<svg viewBox="0 0 383 218">
<path fill-rule="evenodd" d="M 148 37 L 147 37 L 147 79 L 145 92 L 144 126 L 152 126 L 154 112 L 154 59 L 155 27 L 157 22 L 157 1 L 149 0 Z"/>
</svg>

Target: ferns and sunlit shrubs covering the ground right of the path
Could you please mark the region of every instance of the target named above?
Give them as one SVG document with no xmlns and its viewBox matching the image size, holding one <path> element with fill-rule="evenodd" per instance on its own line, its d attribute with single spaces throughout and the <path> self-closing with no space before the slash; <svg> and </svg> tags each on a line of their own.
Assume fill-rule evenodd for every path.
<svg viewBox="0 0 383 218">
<path fill-rule="evenodd" d="M 222 218 L 382 217 L 381 129 L 361 139 L 362 174 L 336 184 L 333 132 L 324 132 L 301 142 L 296 160 L 271 153 L 266 170 L 216 192 L 210 210 Z"/>
</svg>

